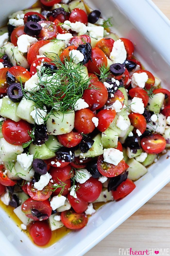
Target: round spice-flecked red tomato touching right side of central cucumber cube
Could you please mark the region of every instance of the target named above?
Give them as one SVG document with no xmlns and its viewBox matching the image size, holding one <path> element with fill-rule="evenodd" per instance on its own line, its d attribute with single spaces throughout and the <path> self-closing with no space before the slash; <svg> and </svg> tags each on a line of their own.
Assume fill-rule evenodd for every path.
<svg viewBox="0 0 170 256">
<path fill-rule="evenodd" d="M 92 122 L 92 118 L 95 117 L 94 113 L 88 109 L 84 108 L 75 112 L 75 129 L 79 133 L 92 133 L 95 129 L 95 125 Z"/>
</svg>

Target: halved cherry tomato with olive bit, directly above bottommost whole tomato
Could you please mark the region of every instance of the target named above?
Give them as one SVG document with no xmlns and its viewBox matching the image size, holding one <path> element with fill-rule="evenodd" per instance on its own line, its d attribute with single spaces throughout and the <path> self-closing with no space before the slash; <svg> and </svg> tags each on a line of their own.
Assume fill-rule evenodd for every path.
<svg viewBox="0 0 170 256">
<path fill-rule="evenodd" d="M 34 210 L 38 210 L 40 214 L 46 214 L 46 216 L 39 218 L 34 214 Z M 35 201 L 32 198 L 28 198 L 23 204 L 22 204 L 22 211 L 25 213 L 25 215 L 28 218 L 31 218 L 33 220 L 47 220 L 52 212 L 52 208 L 50 206 L 50 202 L 48 200 L 45 201 Z"/>
</svg>

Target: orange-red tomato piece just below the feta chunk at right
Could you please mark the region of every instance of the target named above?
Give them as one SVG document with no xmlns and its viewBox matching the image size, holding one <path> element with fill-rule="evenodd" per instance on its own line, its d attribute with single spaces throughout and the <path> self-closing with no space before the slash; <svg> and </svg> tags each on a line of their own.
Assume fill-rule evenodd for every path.
<svg viewBox="0 0 170 256">
<path fill-rule="evenodd" d="M 131 124 L 142 134 L 146 131 L 146 119 L 143 115 L 137 113 L 130 113 L 128 117 Z"/>
</svg>

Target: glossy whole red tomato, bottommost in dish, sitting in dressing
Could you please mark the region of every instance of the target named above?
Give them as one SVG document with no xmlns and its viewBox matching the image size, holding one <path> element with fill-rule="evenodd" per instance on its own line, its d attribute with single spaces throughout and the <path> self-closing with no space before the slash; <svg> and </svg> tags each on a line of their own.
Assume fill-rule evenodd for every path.
<svg viewBox="0 0 170 256">
<path fill-rule="evenodd" d="M 29 234 L 35 244 L 39 246 L 46 245 L 51 237 L 52 231 L 46 221 L 35 221 L 29 226 Z"/>
</svg>

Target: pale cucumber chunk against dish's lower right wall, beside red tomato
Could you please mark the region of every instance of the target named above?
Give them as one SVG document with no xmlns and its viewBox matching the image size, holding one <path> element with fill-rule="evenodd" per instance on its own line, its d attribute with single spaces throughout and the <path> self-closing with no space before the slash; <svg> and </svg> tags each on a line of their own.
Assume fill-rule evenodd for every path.
<svg viewBox="0 0 170 256">
<path fill-rule="evenodd" d="M 137 162 L 134 158 L 131 158 L 127 161 L 129 168 L 127 169 L 128 178 L 135 181 L 142 177 L 148 172 L 147 168 L 143 164 Z"/>
</svg>

